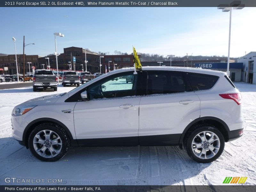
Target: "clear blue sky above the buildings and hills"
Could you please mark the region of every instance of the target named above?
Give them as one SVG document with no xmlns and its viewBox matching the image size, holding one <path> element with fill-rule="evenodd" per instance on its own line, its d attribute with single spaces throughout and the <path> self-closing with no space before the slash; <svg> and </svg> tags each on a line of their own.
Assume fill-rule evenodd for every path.
<svg viewBox="0 0 256 192">
<path fill-rule="evenodd" d="M 94 52 L 225 55 L 229 13 L 203 8 L 0 8 L 0 53 L 45 56 L 77 46 Z M 256 8 L 232 11 L 231 57 L 256 51 Z"/>
</svg>

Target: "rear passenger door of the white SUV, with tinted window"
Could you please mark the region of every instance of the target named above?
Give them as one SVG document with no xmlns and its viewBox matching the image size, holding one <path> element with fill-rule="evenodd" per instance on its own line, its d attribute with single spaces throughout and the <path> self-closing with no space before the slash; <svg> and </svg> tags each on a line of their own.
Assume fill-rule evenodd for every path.
<svg viewBox="0 0 256 192">
<path fill-rule="evenodd" d="M 145 73 L 147 94 L 140 100 L 139 144 L 178 144 L 185 127 L 200 117 L 200 100 L 185 83 L 185 73 Z"/>
</svg>

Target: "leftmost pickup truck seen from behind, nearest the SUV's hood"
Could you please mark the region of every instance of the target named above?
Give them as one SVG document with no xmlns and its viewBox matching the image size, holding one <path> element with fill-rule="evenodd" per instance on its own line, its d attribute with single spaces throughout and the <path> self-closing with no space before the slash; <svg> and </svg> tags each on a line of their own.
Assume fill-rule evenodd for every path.
<svg viewBox="0 0 256 192">
<path fill-rule="evenodd" d="M 53 91 L 57 91 L 57 80 L 51 70 L 37 69 L 33 76 L 33 91 L 37 91 L 38 88 L 53 88 Z"/>
</svg>

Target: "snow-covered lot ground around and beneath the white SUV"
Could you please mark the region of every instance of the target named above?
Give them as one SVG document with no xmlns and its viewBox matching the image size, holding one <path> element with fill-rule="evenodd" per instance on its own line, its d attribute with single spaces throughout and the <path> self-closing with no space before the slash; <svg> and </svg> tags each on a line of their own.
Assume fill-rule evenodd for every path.
<svg viewBox="0 0 256 192">
<path fill-rule="evenodd" d="M 0 90 L 0 185 L 13 184 L 5 183 L 6 177 L 62 180 L 30 183 L 47 185 L 222 185 L 225 177 L 248 177 L 245 185 L 256 185 L 256 85 L 235 85 L 243 96 L 246 130 L 209 164 L 196 163 L 179 147 L 71 148 L 60 161 L 41 162 L 12 138 L 11 111 L 26 100 L 56 92 Z M 58 93 L 73 88 L 60 85 Z"/>
</svg>

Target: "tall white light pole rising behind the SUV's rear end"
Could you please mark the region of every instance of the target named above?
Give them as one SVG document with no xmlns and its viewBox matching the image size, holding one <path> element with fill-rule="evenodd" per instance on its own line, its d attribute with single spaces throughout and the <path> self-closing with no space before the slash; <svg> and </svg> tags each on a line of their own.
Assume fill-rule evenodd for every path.
<svg viewBox="0 0 256 192">
<path fill-rule="evenodd" d="M 231 36 L 231 16 L 232 9 L 243 9 L 244 4 L 241 4 L 241 1 L 233 1 L 227 6 L 219 5 L 218 9 L 222 9 L 222 12 L 229 12 L 229 35 L 228 35 L 228 62 L 227 62 L 227 75 L 229 74 L 229 56 L 230 56 L 230 36 Z"/>
</svg>

